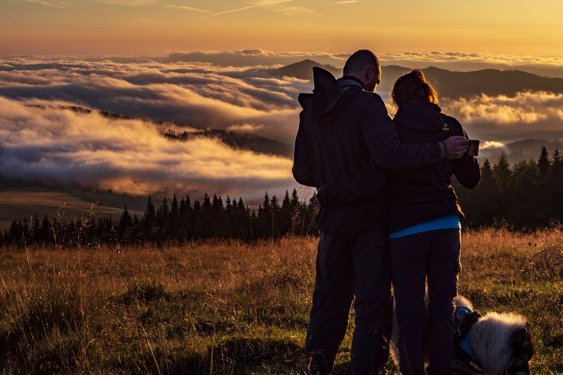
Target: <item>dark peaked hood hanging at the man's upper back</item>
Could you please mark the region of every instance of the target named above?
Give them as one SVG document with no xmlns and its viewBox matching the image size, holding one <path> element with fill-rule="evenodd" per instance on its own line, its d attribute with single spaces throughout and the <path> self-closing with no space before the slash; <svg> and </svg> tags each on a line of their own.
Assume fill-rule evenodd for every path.
<svg viewBox="0 0 563 375">
<path fill-rule="evenodd" d="M 361 84 L 351 79 L 337 80 L 327 70 L 313 67 L 313 93 L 299 94 L 303 110 L 319 123 L 328 123 L 346 109 L 348 103 L 362 91 Z"/>
</svg>

